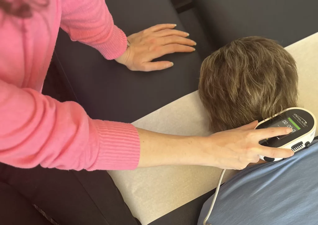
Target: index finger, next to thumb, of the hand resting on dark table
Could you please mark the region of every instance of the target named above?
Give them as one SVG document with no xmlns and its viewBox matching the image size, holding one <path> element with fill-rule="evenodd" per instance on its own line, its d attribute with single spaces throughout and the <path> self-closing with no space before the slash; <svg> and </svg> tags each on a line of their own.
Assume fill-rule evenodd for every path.
<svg viewBox="0 0 318 225">
<path fill-rule="evenodd" d="M 195 48 L 183 44 L 167 44 L 160 46 L 156 49 L 156 51 L 151 52 L 151 54 L 149 54 L 149 57 L 150 60 L 153 60 L 155 58 L 159 58 L 163 55 L 171 54 L 174 52 L 192 52 L 195 50 Z"/>
</svg>

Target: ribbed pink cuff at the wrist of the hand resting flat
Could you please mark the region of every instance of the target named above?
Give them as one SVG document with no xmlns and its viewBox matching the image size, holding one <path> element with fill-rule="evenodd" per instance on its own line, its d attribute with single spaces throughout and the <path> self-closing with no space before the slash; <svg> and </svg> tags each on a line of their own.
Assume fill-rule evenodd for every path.
<svg viewBox="0 0 318 225">
<path fill-rule="evenodd" d="M 127 49 L 127 37 L 117 26 L 113 26 L 113 31 L 107 41 L 102 44 L 93 45 L 107 59 L 120 57 Z"/>
</svg>

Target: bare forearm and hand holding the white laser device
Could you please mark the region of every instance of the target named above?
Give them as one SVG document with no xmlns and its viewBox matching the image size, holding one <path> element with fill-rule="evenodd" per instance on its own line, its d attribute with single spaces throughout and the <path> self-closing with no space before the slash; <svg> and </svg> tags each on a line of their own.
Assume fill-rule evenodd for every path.
<svg viewBox="0 0 318 225">
<path fill-rule="evenodd" d="M 257 121 L 209 137 L 186 137 L 138 129 L 140 136 L 139 167 L 160 165 L 204 165 L 222 169 L 244 169 L 259 161 L 259 155 L 288 158 L 290 149 L 265 147 L 259 141 L 285 135 L 287 127 L 255 130 Z"/>
</svg>

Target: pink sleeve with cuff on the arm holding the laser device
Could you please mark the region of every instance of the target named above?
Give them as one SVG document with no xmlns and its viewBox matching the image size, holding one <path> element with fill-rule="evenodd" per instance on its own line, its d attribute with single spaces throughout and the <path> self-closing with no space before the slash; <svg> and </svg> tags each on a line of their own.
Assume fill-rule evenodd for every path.
<svg viewBox="0 0 318 225">
<path fill-rule="evenodd" d="M 15 167 L 134 169 L 139 136 L 130 124 L 93 120 L 75 102 L 60 103 L 0 79 L 0 161 Z"/>
</svg>

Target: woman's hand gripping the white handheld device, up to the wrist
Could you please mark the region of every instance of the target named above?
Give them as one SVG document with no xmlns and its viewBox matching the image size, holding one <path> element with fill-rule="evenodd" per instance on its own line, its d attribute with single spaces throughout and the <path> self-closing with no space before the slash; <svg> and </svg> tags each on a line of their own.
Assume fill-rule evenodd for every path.
<svg viewBox="0 0 318 225">
<path fill-rule="evenodd" d="M 213 164 L 222 169 L 244 169 L 249 163 L 259 161 L 259 155 L 270 158 L 288 158 L 294 155 L 290 149 L 265 147 L 259 144 L 260 140 L 292 132 L 287 127 L 270 127 L 254 130 L 257 125 L 254 121 L 236 129 L 212 134 L 210 153 Z"/>
</svg>

